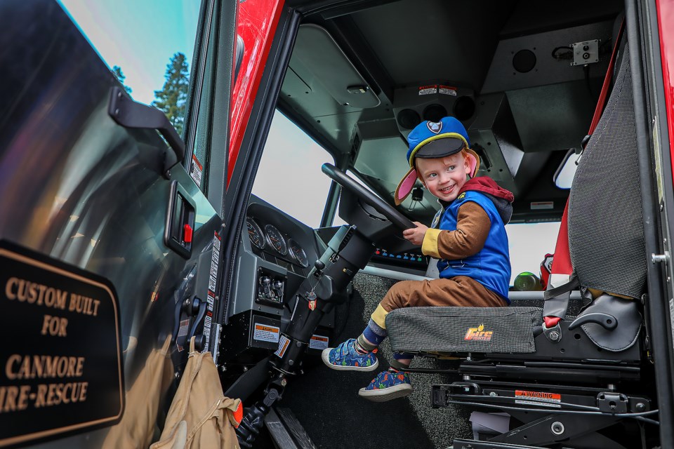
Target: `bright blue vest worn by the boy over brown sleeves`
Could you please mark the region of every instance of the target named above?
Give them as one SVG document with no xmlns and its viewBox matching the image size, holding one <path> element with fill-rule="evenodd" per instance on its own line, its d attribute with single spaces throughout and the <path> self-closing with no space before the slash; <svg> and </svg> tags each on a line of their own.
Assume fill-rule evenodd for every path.
<svg viewBox="0 0 674 449">
<path fill-rule="evenodd" d="M 458 208 L 466 201 L 479 204 L 491 220 L 489 235 L 484 242 L 484 248 L 479 253 L 461 260 L 439 260 L 437 270 L 441 278 L 450 279 L 454 276 L 468 276 L 481 283 L 508 300 L 508 286 L 510 285 L 510 256 L 508 253 L 508 235 L 496 206 L 480 192 L 468 190 L 452 201 L 449 206 L 438 211 L 433 219 L 432 227 L 444 231 L 456 230 L 456 216 Z M 438 223 L 439 222 L 439 223 Z"/>
</svg>

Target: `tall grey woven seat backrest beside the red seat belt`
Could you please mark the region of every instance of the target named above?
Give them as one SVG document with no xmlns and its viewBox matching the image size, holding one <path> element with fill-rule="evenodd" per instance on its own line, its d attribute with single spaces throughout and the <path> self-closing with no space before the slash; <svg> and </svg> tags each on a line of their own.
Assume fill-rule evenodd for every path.
<svg viewBox="0 0 674 449">
<path fill-rule="evenodd" d="M 569 250 L 581 286 L 637 298 L 646 252 L 627 46 L 569 194 Z"/>
</svg>

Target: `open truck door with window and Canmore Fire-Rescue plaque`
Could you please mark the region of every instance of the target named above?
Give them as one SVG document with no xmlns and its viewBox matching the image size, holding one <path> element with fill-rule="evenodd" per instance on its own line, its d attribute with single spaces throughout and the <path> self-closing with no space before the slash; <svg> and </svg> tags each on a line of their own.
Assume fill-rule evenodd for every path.
<svg viewBox="0 0 674 449">
<path fill-rule="evenodd" d="M 0 3 L 0 447 L 147 447 L 217 347 L 238 3 Z"/>
</svg>

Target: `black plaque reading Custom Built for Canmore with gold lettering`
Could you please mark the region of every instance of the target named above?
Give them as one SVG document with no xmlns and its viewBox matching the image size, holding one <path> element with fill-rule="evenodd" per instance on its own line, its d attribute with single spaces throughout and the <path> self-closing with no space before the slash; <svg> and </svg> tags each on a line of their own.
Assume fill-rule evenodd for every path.
<svg viewBox="0 0 674 449">
<path fill-rule="evenodd" d="M 116 424 L 124 411 L 112 283 L 0 241 L 0 447 Z"/>
</svg>

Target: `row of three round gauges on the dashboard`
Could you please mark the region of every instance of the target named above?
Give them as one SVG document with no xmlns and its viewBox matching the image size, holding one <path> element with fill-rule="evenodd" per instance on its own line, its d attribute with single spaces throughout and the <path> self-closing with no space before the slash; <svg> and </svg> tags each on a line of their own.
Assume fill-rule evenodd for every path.
<svg viewBox="0 0 674 449">
<path fill-rule="evenodd" d="M 251 215 L 250 211 L 249 215 L 246 215 L 246 227 L 253 253 L 263 257 L 275 257 L 275 262 L 280 264 L 289 262 L 302 269 L 309 267 L 308 250 L 305 249 L 306 245 L 300 243 L 307 240 L 306 236 L 297 235 L 303 234 L 302 229 L 298 229 L 296 225 L 279 229 L 278 223 L 272 225 L 267 221 L 265 217 Z M 292 234 L 286 229 L 292 229 Z"/>
</svg>

